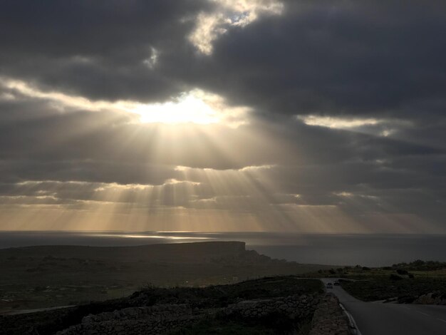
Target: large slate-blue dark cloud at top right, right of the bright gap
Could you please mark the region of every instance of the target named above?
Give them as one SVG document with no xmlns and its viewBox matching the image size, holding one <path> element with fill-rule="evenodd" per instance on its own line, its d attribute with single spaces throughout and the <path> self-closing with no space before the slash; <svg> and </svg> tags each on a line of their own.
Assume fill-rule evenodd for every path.
<svg viewBox="0 0 446 335">
<path fill-rule="evenodd" d="M 445 9 L 289 1 L 283 16 L 219 39 L 209 60 L 218 75 L 205 85 L 269 113 L 442 115 L 434 105 L 445 103 Z"/>
</svg>

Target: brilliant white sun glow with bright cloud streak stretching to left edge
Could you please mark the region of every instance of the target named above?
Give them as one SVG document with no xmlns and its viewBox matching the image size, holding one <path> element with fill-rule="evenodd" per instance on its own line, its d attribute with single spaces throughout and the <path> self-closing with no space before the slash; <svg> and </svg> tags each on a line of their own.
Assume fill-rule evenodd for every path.
<svg viewBox="0 0 446 335">
<path fill-rule="evenodd" d="M 49 100 L 61 111 L 73 108 L 84 110 L 110 110 L 138 115 L 140 123 L 195 123 L 208 125 L 223 123 L 232 128 L 247 124 L 251 108 L 247 106 L 230 106 L 217 94 L 199 89 L 180 93 L 179 96 L 162 103 L 140 103 L 132 100 L 89 100 L 82 96 L 71 96 L 63 92 L 44 91 L 25 81 L 0 77 L 0 86 L 13 93 L 4 96 L 6 100 L 14 100 L 14 93 L 29 98 Z M 0 97 L 1 98 L 1 97 Z"/>
</svg>

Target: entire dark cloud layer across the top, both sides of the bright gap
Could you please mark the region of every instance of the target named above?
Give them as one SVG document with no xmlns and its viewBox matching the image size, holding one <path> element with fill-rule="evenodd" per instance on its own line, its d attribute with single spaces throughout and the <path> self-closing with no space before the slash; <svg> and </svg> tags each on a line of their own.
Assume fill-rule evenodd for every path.
<svg viewBox="0 0 446 335">
<path fill-rule="evenodd" d="M 441 1 L 287 1 L 282 15 L 230 28 L 204 56 L 187 36 L 212 6 L 7 1 L 1 66 L 90 98 L 165 100 L 199 86 L 265 113 L 442 115 Z"/>
</svg>

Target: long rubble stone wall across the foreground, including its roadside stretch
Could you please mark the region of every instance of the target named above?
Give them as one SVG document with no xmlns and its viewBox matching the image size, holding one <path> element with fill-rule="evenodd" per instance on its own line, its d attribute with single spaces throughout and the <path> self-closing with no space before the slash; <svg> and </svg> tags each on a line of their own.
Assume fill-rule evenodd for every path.
<svg viewBox="0 0 446 335">
<path fill-rule="evenodd" d="M 290 319 L 311 319 L 310 335 L 350 335 L 348 319 L 332 294 L 293 295 L 273 299 L 240 301 L 222 309 L 194 311 L 188 304 L 165 304 L 132 307 L 88 315 L 81 324 L 59 331 L 56 335 L 140 335 L 163 334 L 199 321 L 209 314 L 242 316 L 256 319 L 280 313 Z"/>
</svg>

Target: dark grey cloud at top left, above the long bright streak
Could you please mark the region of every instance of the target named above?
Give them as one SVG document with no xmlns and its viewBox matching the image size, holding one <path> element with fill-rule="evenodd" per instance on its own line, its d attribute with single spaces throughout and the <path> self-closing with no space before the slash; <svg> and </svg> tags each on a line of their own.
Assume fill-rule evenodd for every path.
<svg viewBox="0 0 446 335">
<path fill-rule="evenodd" d="M 95 99 L 162 100 L 184 84 L 144 61 L 177 52 L 209 1 L 2 1 L 3 74 Z M 192 48 L 192 47 L 191 47 Z M 160 57 L 162 61 L 162 57 Z"/>
</svg>

